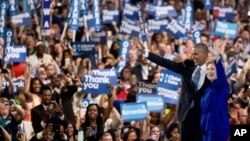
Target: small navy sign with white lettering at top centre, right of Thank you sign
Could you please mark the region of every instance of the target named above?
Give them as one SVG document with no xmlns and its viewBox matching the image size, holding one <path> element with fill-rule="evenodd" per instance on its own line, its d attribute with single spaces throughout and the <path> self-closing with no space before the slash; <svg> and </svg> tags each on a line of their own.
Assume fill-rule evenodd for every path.
<svg viewBox="0 0 250 141">
<path fill-rule="evenodd" d="M 138 20 L 138 10 L 138 7 L 126 3 L 123 9 L 123 17 L 130 20 Z"/>
</svg>

